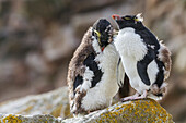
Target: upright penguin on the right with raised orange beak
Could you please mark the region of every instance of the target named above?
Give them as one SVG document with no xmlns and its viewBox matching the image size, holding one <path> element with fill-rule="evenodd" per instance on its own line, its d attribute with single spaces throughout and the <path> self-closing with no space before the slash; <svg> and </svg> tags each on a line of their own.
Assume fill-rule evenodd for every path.
<svg viewBox="0 0 186 123">
<path fill-rule="evenodd" d="M 137 90 L 133 96 L 123 100 L 141 98 L 161 99 L 165 90 L 164 81 L 171 71 L 171 52 L 142 24 L 140 14 L 112 16 L 118 26 L 115 47 L 121 57 L 121 62 L 129 83 Z"/>
</svg>

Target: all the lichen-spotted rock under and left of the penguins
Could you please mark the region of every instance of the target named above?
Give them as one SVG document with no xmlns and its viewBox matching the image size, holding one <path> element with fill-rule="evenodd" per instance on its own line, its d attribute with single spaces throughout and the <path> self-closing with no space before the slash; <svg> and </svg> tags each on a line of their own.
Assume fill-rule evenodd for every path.
<svg viewBox="0 0 186 123">
<path fill-rule="evenodd" d="M 61 94 L 63 94 L 61 96 Z M 173 118 L 152 99 L 118 102 L 80 118 L 70 118 L 67 87 L 0 103 L 0 123 L 173 123 Z"/>
</svg>

